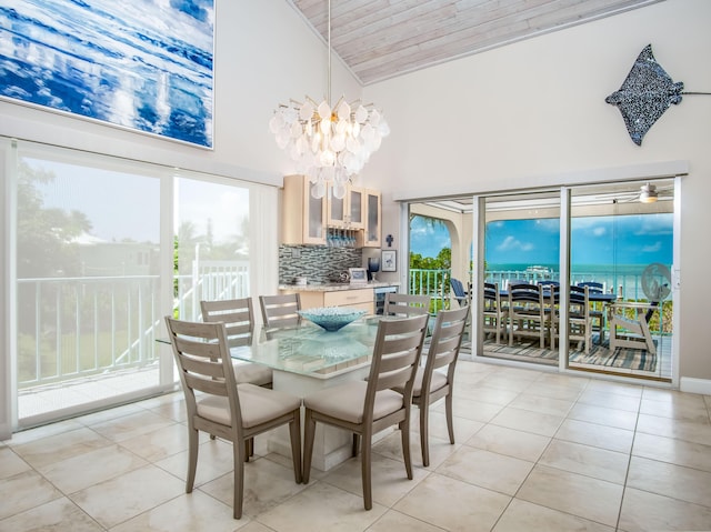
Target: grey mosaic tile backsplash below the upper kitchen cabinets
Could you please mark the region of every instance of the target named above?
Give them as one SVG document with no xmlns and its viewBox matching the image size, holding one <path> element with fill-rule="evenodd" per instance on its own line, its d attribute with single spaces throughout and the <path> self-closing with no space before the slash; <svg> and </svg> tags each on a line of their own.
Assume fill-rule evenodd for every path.
<svg viewBox="0 0 711 532">
<path fill-rule="evenodd" d="M 281 244 L 279 283 L 290 284 L 297 277 L 306 277 L 310 283 L 338 281 L 341 272 L 362 264 L 363 253 L 358 248 Z"/>
</svg>

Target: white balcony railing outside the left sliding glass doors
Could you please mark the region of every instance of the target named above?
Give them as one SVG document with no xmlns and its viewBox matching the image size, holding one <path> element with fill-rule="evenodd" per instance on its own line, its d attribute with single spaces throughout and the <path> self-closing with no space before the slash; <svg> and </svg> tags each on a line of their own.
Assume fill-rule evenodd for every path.
<svg viewBox="0 0 711 532">
<path fill-rule="evenodd" d="M 18 280 L 18 389 L 157 362 L 163 333 L 158 275 Z M 249 294 L 247 261 L 201 261 L 176 275 L 176 314 L 200 319 L 200 300 Z"/>
</svg>

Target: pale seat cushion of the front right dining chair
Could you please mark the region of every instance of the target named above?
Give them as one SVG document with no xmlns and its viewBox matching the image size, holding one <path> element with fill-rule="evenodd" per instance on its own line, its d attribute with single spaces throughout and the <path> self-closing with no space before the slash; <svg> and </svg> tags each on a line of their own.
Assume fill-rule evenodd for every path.
<svg viewBox="0 0 711 532">
<path fill-rule="evenodd" d="M 346 384 L 327 388 L 303 399 L 303 405 L 323 414 L 348 421 L 363 422 L 363 405 L 368 382 L 353 381 Z M 402 395 L 393 390 L 381 390 L 375 393 L 373 420 L 397 412 L 402 408 Z"/>
</svg>

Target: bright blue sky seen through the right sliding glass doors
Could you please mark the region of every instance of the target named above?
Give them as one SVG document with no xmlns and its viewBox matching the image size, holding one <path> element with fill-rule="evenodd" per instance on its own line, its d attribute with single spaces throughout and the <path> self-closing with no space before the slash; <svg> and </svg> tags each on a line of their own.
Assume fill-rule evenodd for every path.
<svg viewBox="0 0 711 532">
<path fill-rule="evenodd" d="M 573 264 L 648 264 L 672 261 L 672 214 L 575 218 L 572 223 Z M 437 257 L 451 247 L 444 224 L 413 218 L 410 249 Z M 491 264 L 557 264 L 558 219 L 507 220 L 487 225 L 485 259 Z"/>
</svg>

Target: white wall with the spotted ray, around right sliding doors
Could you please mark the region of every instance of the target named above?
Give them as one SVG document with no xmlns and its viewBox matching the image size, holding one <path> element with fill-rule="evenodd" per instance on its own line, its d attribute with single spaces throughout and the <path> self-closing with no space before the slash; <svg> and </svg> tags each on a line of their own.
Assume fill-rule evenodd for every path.
<svg viewBox="0 0 711 532">
<path fill-rule="evenodd" d="M 367 87 L 392 134 L 364 179 L 384 191 L 384 229 L 393 198 L 414 199 L 565 182 L 595 169 L 688 161 L 681 202 L 680 373 L 711 379 L 711 96 L 687 96 L 652 127 L 642 145 L 605 103 L 644 46 L 689 91 L 711 92 L 711 2 L 668 0 Z M 394 234 L 394 233 L 393 233 Z M 697 288 L 698 287 L 698 288 Z M 682 382 L 683 384 L 683 382 Z"/>
</svg>

